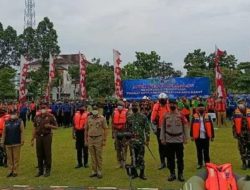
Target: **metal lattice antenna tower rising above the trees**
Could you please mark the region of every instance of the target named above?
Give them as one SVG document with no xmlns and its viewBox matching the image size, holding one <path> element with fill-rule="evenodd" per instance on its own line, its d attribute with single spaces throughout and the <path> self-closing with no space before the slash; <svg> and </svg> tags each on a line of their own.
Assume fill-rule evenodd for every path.
<svg viewBox="0 0 250 190">
<path fill-rule="evenodd" d="M 28 27 L 34 28 L 36 25 L 35 19 L 35 0 L 25 0 L 24 10 L 24 29 Z"/>
</svg>

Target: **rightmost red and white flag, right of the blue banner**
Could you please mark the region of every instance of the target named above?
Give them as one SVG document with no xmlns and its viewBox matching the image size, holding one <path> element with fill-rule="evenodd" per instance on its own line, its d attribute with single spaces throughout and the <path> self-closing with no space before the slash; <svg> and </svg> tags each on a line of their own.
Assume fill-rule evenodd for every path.
<svg viewBox="0 0 250 190">
<path fill-rule="evenodd" d="M 216 93 L 218 97 L 223 97 L 226 98 L 226 90 L 225 86 L 223 83 L 223 77 L 222 77 L 222 72 L 220 68 L 220 58 L 221 56 L 224 55 L 224 51 L 221 51 L 220 49 L 216 48 L 215 52 L 215 58 L 214 58 L 214 63 L 215 63 L 215 83 L 216 83 Z"/>
</svg>

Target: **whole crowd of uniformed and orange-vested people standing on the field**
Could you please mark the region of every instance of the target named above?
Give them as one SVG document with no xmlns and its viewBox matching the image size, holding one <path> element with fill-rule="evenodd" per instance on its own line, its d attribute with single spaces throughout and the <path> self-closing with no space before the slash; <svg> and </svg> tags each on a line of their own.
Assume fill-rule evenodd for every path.
<svg viewBox="0 0 250 190">
<path fill-rule="evenodd" d="M 102 152 L 108 138 L 107 129 L 111 128 L 118 168 L 126 168 L 132 179 L 139 177 L 146 180 L 144 153 L 145 147 L 150 150 L 152 131 L 158 142 L 158 169 L 169 169 L 168 181 L 184 181 L 184 144 L 189 138 L 195 142 L 197 169 L 203 168 L 210 163 L 209 144 L 215 137 L 215 124 L 217 128 L 233 126 L 242 169 L 250 168 L 249 106 L 249 100 L 242 98 L 235 100 L 233 97 L 224 99 L 210 96 L 175 99 L 165 93 L 160 93 L 156 101 L 145 96 L 138 101 L 105 101 L 91 105 L 91 108 L 86 101 L 2 103 L 1 147 L 7 153 L 8 177 L 16 177 L 26 119 L 31 120 L 31 144 L 36 144 L 38 160 L 36 177 L 48 177 L 51 172 L 52 130 L 72 127 L 77 150 L 75 168 L 89 167 L 90 154 L 90 177 L 102 178 Z M 131 162 L 128 162 L 128 151 Z"/>
</svg>

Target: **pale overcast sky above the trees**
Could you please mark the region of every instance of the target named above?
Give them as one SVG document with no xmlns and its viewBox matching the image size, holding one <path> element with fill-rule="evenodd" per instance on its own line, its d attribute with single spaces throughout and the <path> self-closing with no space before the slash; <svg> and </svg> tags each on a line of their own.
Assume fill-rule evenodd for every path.
<svg viewBox="0 0 250 190">
<path fill-rule="evenodd" d="M 24 27 L 25 0 L 0 0 L 0 22 L 18 34 Z M 58 32 L 61 53 L 81 50 L 88 59 L 123 63 L 135 51 L 155 50 L 182 69 L 187 53 L 215 44 L 239 61 L 250 60 L 249 0 L 35 0 L 36 22 L 47 16 Z"/>
</svg>

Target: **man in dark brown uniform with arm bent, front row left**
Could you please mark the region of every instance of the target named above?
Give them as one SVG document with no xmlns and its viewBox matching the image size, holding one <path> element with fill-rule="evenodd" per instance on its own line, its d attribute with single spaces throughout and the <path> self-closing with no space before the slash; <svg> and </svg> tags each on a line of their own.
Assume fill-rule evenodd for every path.
<svg viewBox="0 0 250 190">
<path fill-rule="evenodd" d="M 48 105 L 42 103 L 40 114 L 34 118 L 34 129 L 31 139 L 33 146 L 36 139 L 36 154 L 38 160 L 38 173 L 35 177 L 50 176 L 51 171 L 51 145 L 52 145 L 52 129 L 57 129 L 55 117 L 47 112 Z M 44 173 L 45 168 L 45 173 Z"/>
</svg>

